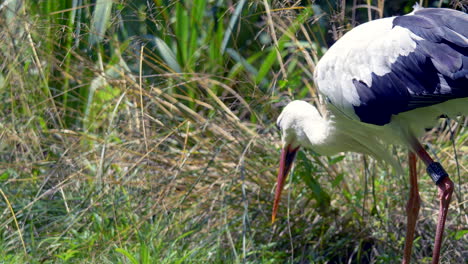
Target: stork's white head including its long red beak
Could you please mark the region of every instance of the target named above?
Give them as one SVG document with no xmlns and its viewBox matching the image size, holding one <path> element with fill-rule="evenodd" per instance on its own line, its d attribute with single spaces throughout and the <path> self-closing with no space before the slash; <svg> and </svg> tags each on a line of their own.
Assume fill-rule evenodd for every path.
<svg viewBox="0 0 468 264">
<path fill-rule="evenodd" d="M 276 125 L 281 131 L 283 147 L 271 217 L 272 222 L 275 221 L 284 182 L 288 177 L 296 153 L 301 146 L 309 147 L 311 145 L 309 137 L 312 133 L 308 133 L 308 130 L 316 123 L 314 121 L 318 122 L 319 120 L 322 120 L 322 117 L 314 106 L 305 101 L 292 101 L 283 109 L 276 121 Z"/>
</svg>

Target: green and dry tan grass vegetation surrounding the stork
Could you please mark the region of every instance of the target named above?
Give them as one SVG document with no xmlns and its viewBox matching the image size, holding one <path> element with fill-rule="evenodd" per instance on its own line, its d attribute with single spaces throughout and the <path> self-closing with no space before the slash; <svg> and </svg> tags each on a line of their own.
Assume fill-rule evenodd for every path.
<svg viewBox="0 0 468 264">
<path fill-rule="evenodd" d="M 300 152 L 270 222 L 282 106 L 319 104 L 327 47 L 414 1 L 349 2 L 2 1 L 0 262 L 398 262 L 408 177 L 359 154 Z M 425 136 L 456 184 L 443 263 L 468 257 L 456 121 Z M 428 263 L 437 190 L 419 183 Z"/>
</svg>

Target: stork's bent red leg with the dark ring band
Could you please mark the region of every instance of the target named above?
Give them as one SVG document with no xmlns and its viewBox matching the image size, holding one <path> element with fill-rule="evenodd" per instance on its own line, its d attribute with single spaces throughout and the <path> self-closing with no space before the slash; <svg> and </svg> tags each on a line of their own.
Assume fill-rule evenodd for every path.
<svg viewBox="0 0 468 264">
<path fill-rule="evenodd" d="M 445 172 L 442 166 L 439 163 L 434 162 L 434 160 L 429 156 L 423 146 L 421 146 L 421 144 L 416 139 L 412 143 L 413 149 L 416 151 L 419 158 L 421 158 L 421 160 L 423 160 L 426 164 L 427 172 L 432 179 L 435 179 L 437 188 L 439 189 L 439 219 L 437 220 L 434 251 L 432 252 L 432 264 L 437 264 L 439 263 L 440 247 L 442 245 L 445 220 L 447 219 L 447 212 L 453 193 L 453 182 L 450 180 L 447 172 Z"/>
</svg>

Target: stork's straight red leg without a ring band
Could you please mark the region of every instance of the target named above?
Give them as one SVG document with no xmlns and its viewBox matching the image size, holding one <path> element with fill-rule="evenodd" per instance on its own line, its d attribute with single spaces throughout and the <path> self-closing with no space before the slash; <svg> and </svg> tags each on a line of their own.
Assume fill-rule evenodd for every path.
<svg viewBox="0 0 468 264">
<path fill-rule="evenodd" d="M 416 155 L 414 152 L 408 152 L 408 161 L 410 167 L 410 193 L 408 203 L 406 204 L 406 214 L 408 218 L 403 264 L 408 264 L 411 261 L 411 249 L 413 247 L 414 230 L 416 228 L 416 220 L 418 219 L 419 207 L 421 205 L 421 199 L 419 198 L 418 190 L 418 176 L 416 172 Z"/>
</svg>

